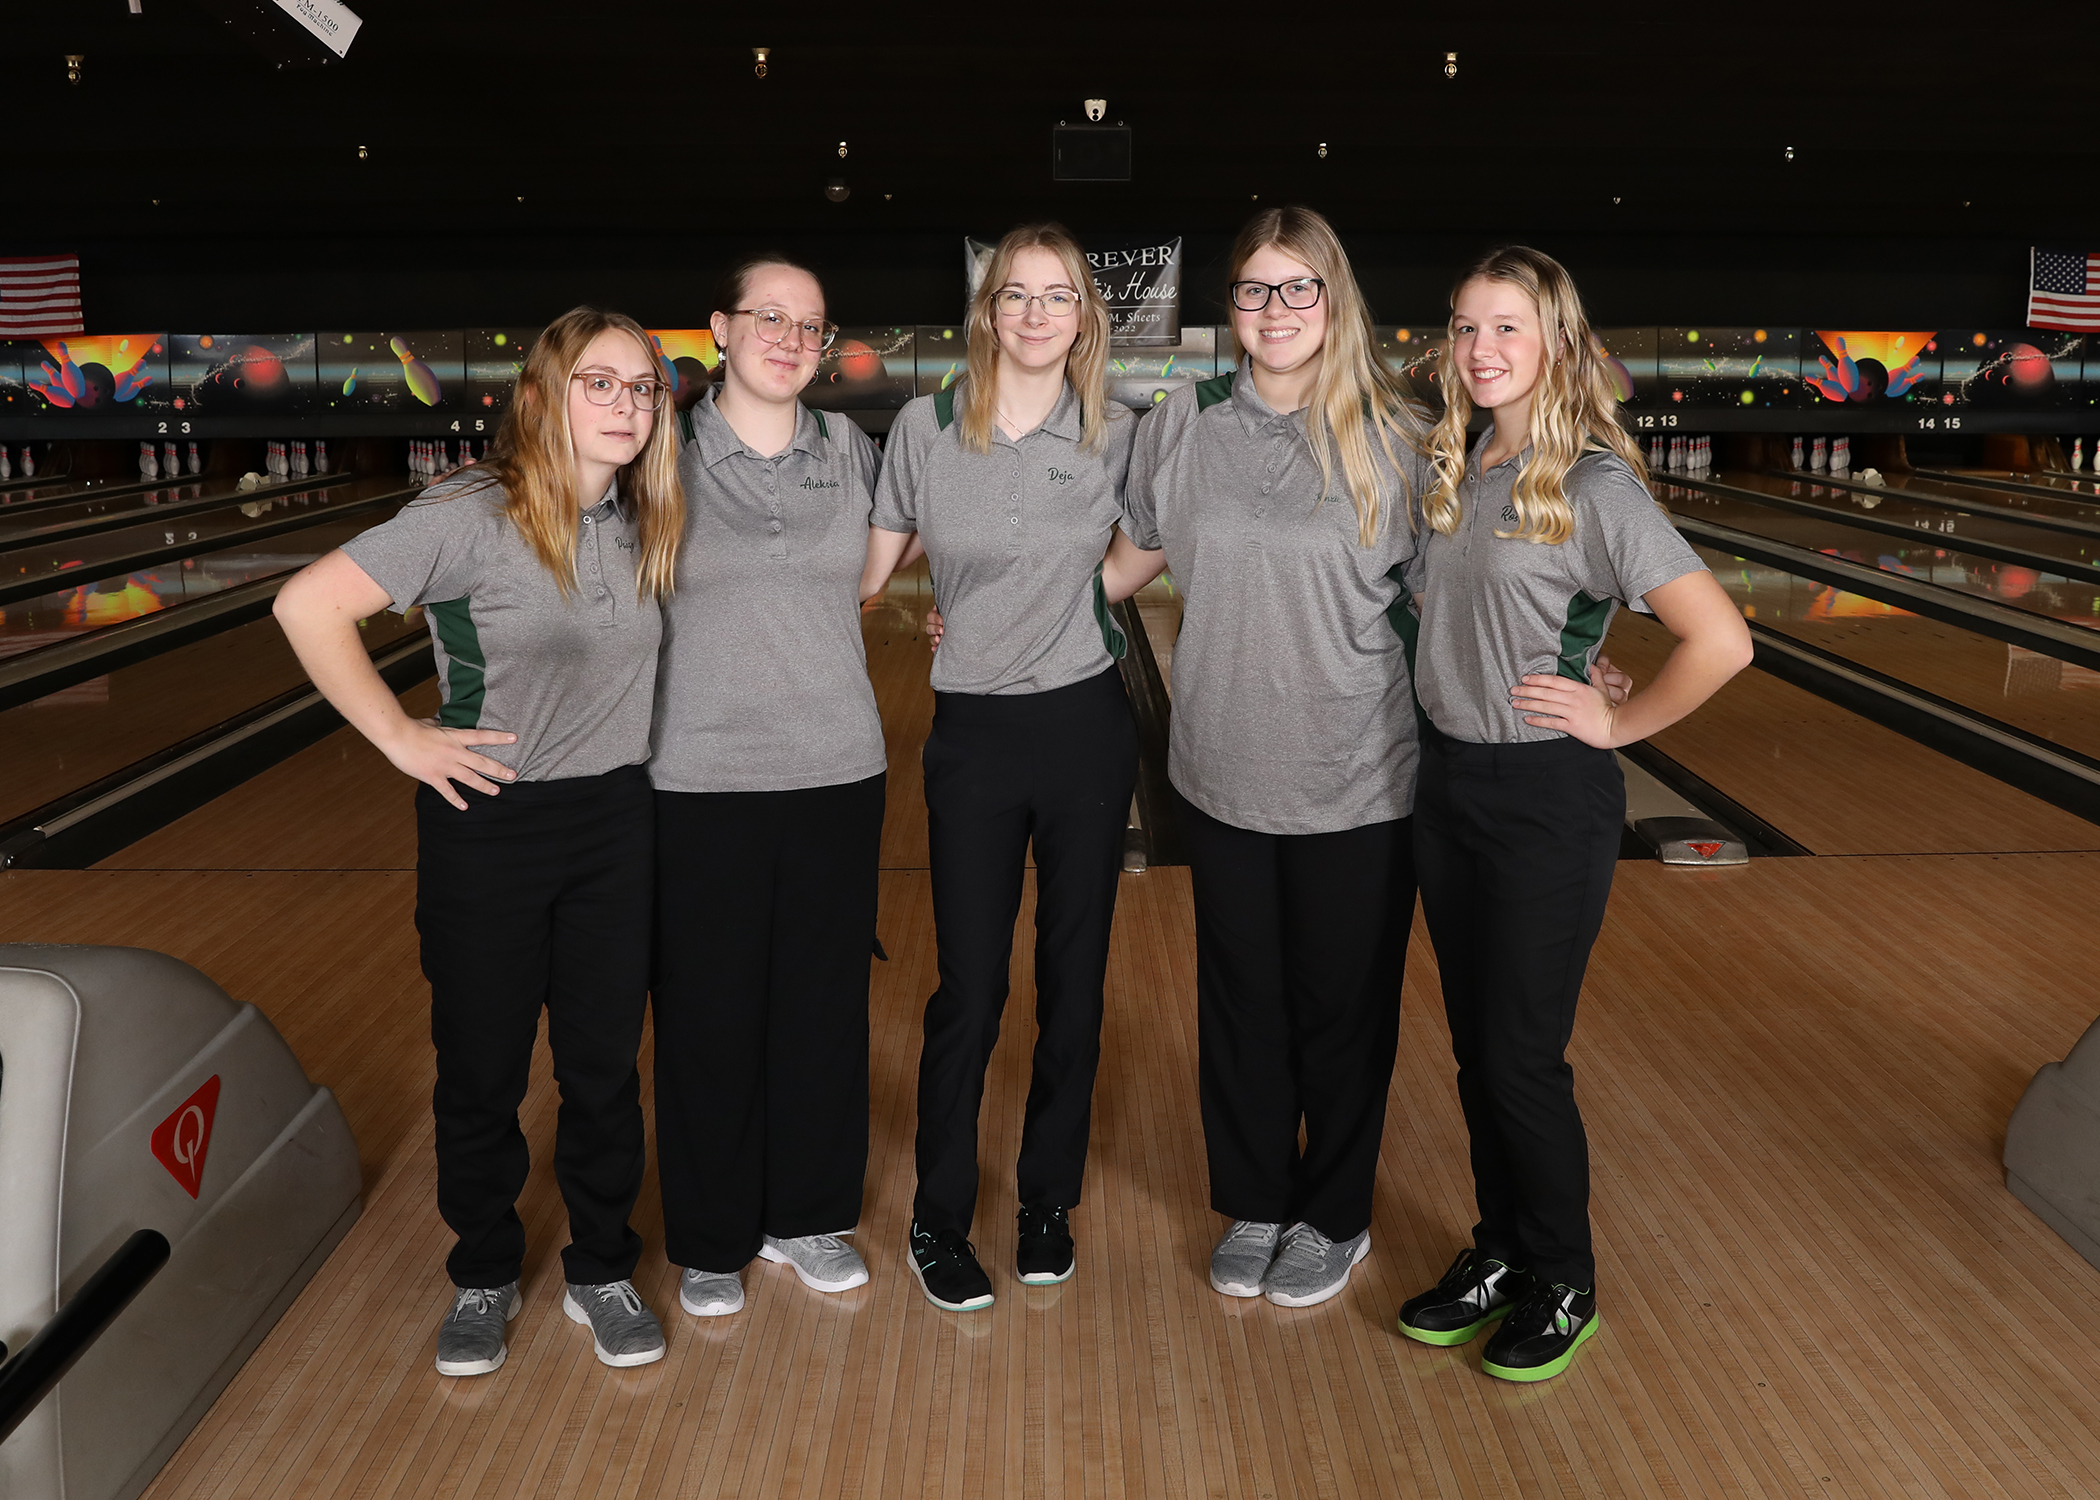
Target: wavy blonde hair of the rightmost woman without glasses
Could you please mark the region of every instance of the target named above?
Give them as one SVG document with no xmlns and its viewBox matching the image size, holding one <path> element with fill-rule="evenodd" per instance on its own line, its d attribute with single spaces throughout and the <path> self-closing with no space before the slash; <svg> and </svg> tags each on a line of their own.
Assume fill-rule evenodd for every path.
<svg viewBox="0 0 2100 1500">
<path fill-rule="evenodd" d="M 1531 462 L 1516 475 L 1512 496 L 1516 529 L 1495 536 L 1558 546 L 1575 536 L 1575 508 L 1567 498 L 1569 468 L 1586 454 L 1606 450 L 1623 458 L 1642 483 L 1648 466 L 1632 435 L 1619 426 L 1619 397 L 1567 267 L 1527 246 L 1493 250 L 1451 288 L 1453 309 L 1472 282 L 1499 282 L 1529 296 L 1539 309 L 1539 338 L 1546 347 L 1539 382 L 1531 389 Z M 1445 414 L 1430 433 L 1436 487 L 1422 502 L 1428 523 L 1445 536 L 1460 521 L 1457 487 L 1466 479 L 1466 422 L 1472 420 L 1472 397 L 1460 378 L 1455 351 L 1453 338 L 1443 353 Z"/>
</svg>

